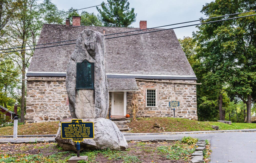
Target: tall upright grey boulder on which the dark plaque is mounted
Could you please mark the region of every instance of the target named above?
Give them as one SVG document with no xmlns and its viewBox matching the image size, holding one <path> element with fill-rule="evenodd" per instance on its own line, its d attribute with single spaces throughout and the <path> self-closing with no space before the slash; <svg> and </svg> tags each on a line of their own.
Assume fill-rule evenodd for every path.
<svg viewBox="0 0 256 163">
<path fill-rule="evenodd" d="M 94 90 L 76 90 L 77 63 L 94 63 Z M 67 65 L 66 89 L 73 118 L 105 118 L 109 108 L 108 79 L 105 73 L 104 35 L 83 30 Z"/>
</svg>

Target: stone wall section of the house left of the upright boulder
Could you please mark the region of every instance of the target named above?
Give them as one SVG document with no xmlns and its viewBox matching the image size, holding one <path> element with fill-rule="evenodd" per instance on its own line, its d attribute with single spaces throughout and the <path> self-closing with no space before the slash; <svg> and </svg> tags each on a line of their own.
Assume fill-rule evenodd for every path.
<svg viewBox="0 0 256 163">
<path fill-rule="evenodd" d="M 65 77 L 28 77 L 27 79 L 25 115 L 27 123 L 71 117 Z"/>
</svg>

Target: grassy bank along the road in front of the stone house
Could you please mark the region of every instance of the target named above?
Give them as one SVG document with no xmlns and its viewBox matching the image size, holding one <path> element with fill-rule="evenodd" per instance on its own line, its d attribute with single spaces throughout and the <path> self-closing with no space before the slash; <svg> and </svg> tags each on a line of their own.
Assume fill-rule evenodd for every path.
<svg viewBox="0 0 256 163">
<path fill-rule="evenodd" d="M 158 123 L 161 129 L 154 129 L 154 123 Z M 18 135 L 43 135 L 56 134 L 59 121 L 42 122 L 18 126 Z M 234 129 L 254 129 L 256 124 L 232 123 L 231 125 L 220 122 L 201 122 L 182 118 L 138 118 L 138 121 L 132 121 L 128 124 L 133 133 L 153 133 L 153 132 L 182 132 L 182 131 L 207 131 L 214 130 L 211 125 L 219 126 L 220 130 Z M 13 135 L 13 127 L 1 127 L 0 135 Z"/>
</svg>

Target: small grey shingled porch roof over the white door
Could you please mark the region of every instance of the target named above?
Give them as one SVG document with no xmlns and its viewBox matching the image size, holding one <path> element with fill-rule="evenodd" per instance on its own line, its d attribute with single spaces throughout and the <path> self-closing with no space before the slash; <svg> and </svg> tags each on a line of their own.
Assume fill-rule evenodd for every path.
<svg viewBox="0 0 256 163">
<path fill-rule="evenodd" d="M 135 79 L 108 78 L 109 90 L 138 90 Z"/>
</svg>

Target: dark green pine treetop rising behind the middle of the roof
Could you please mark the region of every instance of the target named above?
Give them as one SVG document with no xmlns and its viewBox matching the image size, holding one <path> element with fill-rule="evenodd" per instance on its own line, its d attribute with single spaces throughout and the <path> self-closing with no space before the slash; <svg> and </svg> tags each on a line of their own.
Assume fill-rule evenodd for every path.
<svg viewBox="0 0 256 163">
<path fill-rule="evenodd" d="M 128 0 L 115 1 L 116 0 L 108 0 L 109 4 L 107 5 L 105 5 L 105 2 L 102 2 L 102 10 L 97 7 L 100 13 L 98 16 L 104 26 L 128 27 L 136 21 L 137 14 L 134 13 L 134 8 L 129 10 L 130 3 Z"/>
</svg>

